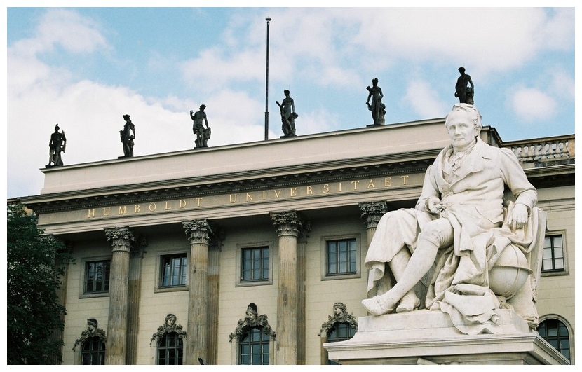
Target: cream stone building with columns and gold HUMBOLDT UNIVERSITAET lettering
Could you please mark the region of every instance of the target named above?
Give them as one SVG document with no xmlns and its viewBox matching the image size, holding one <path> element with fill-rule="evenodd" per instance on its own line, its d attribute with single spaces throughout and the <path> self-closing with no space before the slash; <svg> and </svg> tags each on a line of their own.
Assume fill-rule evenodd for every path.
<svg viewBox="0 0 582 372">
<path fill-rule="evenodd" d="M 367 317 L 379 218 L 414 207 L 445 120 L 378 125 L 42 170 L 17 198 L 67 244 L 63 364 L 333 364 Z M 574 154 L 503 142 L 547 213 L 539 336 L 574 364 Z"/>
</svg>

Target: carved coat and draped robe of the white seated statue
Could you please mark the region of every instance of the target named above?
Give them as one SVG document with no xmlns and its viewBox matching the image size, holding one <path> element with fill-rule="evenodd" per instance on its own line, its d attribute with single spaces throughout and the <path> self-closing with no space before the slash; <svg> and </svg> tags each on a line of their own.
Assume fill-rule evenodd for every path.
<svg viewBox="0 0 582 372">
<path fill-rule="evenodd" d="M 503 198 L 506 186 L 515 203 L 530 211 L 524 228 L 511 230 L 504 223 L 514 205 Z M 428 212 L 427 201 L 432 197 L 445 205 L 440 216 Z M 444 218 L 452 226 L 454 242 L 440 247 L 433 267 L 414 290 L 426 308 L 446 312 L 459 331 L 497 333 L 495 310 L 513 305 L 489 289 L 489 270 L 504 249 L 518 249 L 529 257 L 537 223 L 531 211 L 536 202 L 536 189 L 510 150 L 489 146 L 479 137 L 466 153 L 453 154 L 452 146 L 447 146 L 428 167 L 416 207 L 388 212 L 380 219 L 365 259 L 370 270 L 368 296 L 391 287 L 394 278 L 388 262 L 400 249 L 412 254 L 426 223 Z M 518 299 L 515 311 L 536 320 L 529 282 L 523 287 L 523 293 L 514 296 Z"/>
</svg>

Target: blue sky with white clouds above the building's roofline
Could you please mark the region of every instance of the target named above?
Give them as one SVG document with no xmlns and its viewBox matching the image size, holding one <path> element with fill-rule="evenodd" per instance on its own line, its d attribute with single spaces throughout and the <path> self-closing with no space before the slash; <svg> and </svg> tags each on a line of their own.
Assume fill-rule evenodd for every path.
<svg viewBox="0 0 582 372">
<path fill-rule="evenodd" d="M 387 125 L 442 118 L 460 66 L 504 141 L 574 133 L 573 7 L 11 7 L 23 5 L 6 8 L 8 198 L 41 192 L 56 123 L 65 165 L 122 156 L 125 113 L 135 156 L 192 149 L 189 111 L 201 104 L 209 146 L 263 141 L 267 16 L 269 139 L 283 135 L 285 89 L 297 135 L 371 124 L 372 78 Z"/>
</svg>

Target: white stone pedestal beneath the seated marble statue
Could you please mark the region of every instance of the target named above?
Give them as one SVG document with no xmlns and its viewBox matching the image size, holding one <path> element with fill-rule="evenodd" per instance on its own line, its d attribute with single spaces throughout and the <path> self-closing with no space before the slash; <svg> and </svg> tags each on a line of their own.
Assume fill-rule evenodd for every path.
<svg viewBox="0 0 582 372">
<path fill-rule="evenodd" d="M 350 340 L 325 343 L 339 364 L 569 364 L 513 310 L 497 310 L 501 332 L 468 336 L 444 312 L 358 318 Z"/>
</svg>

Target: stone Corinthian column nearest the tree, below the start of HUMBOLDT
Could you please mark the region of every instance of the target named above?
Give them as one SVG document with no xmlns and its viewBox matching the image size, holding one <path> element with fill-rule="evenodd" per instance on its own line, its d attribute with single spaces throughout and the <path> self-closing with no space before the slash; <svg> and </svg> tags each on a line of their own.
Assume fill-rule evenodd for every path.
<svg viewBox="0 0 582 372">
<path fill-rule="evenodd" d="M 133 233 L 128 227 L 106 228 L 111 240 L 111 272 L 109 273 L 109 318 L 107 319 L 107 352 L 105 364 L 126 364 L 128 333 L 129 259 Z"/>
</svg>

